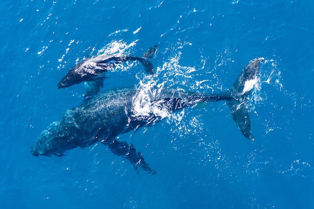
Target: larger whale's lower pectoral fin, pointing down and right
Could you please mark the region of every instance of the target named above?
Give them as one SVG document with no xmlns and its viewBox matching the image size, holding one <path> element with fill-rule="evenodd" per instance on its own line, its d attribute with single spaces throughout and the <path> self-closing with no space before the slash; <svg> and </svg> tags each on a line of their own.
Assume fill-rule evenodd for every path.
<svg viewBox="0 0 314 209">
<path fill-rule="evenodd" d="M 104 141 L 103 144 L 108 145 L 113 154 L 123 157 L 133 164 L 138 173 L 138 167 L 151 174 L 156 174 L 152 168 L 145 162 L 142 154 L 137 152 L 133 144 L 128 144 L 125 141 L 113 140 L 111 143 Z"/>
</svg>

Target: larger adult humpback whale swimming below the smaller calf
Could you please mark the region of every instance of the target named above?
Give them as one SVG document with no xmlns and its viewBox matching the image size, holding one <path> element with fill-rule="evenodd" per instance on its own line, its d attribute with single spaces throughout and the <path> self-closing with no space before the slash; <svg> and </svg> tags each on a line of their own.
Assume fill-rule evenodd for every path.
<svg viewBox="0 0 314 209">
<path fill-rule="evenodd" d="M 160 120 L 162 117 L 158 113 L 163 111 L 173 112 L 201 102 L 222 100 L 227 101 L 232 118 L 243 136 L 254 140 L 246 97 L 253 88 L 252 83 L 256 81 L 262 60 L 264 58 L 250 61 L 227 92 L 201 94 L 162 89 L 158 95 L 149 95 L 150 101 L 146 104 L 148 109 L 144 113 L 136 110 L 137 102 L 141 101 L 138 89 L 122 88 L 102 92 L 82 105 L 67 110 L 59 121 L 53 122 L 40 134 L 31 152 L 35 156 L 62 156 L 70 149 L 101 142 L 113 154 L 128 160 L 137 172 L 140 167 L 154 174 L 155 171 L 136 151 L 135 146 L 117 140 L 117 136 Z"/>
</svg>

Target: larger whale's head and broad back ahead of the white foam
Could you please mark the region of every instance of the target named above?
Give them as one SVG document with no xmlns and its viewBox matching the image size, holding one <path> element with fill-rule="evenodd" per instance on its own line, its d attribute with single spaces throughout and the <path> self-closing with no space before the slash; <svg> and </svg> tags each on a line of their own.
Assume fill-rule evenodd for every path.
<svg viewBox="0 0 314 209">
<path fill-rule="evenodd" d="M 133 94 L 130 88 L 110 90 L 67 110 L 41 133 L 31 148 L 33 155 L 62 155 L 127 131 Z"/>
</svg>

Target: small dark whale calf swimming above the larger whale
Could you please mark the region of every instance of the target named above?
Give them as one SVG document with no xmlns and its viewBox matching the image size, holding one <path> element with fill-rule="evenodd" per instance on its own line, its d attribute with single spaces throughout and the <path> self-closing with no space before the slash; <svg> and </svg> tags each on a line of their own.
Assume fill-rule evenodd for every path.
<svg viewBox="0 0 314 209">
<path fill-rule="evenodd" d="M 145 71 L 152 75 L 154 73 L 150 59 L 157 50 L 157 45 L 150 47 L 142 57 L 132 57 L 126 55 L 100 55 L 78 63 L 61 79 L 57 88 L 67 88 L 83 81 L 98 81 L 97 86 L 103 85 L 104 73 L 117 64 L 126 61 L 139 61 Z M 95 84 L 94 84 L 95 85 Z M 99 87 L 100 88 L 100 87 Z"/>
</svg>

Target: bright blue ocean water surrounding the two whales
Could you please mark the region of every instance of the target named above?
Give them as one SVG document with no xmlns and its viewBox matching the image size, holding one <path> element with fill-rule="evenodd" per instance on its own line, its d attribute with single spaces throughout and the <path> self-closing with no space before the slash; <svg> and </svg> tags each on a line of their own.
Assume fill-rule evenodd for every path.
<svg viewBox="0 0 314 209">
<path fill-rule="evenodd" d="M 313 8 L 309 0 L 1 3 L 1 208 L 313 208 Z M 100 143 L 31 154 L 40 133 L 83 101 L 83 84 L 56 88 L 75 63 L 153 45 L 153 80 L 129 62 L 108 72 L 102 91 L 154 82 L 221 92 L 264 57 L 248 102 L 255 141 L 217 102 L 119 136 L 155 175 L 137 174 Z"/>
</svg>

